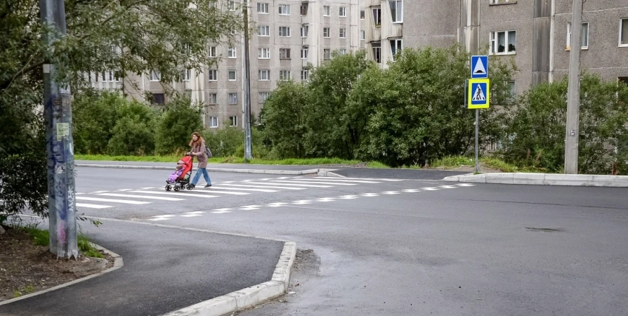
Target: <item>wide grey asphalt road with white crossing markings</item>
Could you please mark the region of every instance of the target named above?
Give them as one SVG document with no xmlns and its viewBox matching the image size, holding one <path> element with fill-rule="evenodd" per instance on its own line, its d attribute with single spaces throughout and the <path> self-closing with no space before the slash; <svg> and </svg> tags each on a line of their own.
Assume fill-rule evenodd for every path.
<svg viewBox="0 0 628 316">
<path fill-rule="evenodd" d="M 162 191 L 167 173 L 79 168 L 78 196 Z M 211 176 L 214 187 L 284 188 L 136 192 L 182 200 L 79 200 L 111 206 L 79 210 L 287 239 L 313 251 L 300 261 L 287 303 L 242 315 L 628 315 L 623 188 Z"/>
</svg>

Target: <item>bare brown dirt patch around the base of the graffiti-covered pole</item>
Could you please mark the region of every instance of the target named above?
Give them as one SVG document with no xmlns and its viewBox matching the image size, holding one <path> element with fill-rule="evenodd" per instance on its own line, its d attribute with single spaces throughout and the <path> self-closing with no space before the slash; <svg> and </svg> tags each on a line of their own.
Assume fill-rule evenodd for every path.
<svg viewBox="0 0 628 316">
<path fill-rule="evenodd" d="M 80 279 L 112 267 L 114 258 L 57 259 L 22 230 L 0 235 L 0 301 Z"/>
</svg>

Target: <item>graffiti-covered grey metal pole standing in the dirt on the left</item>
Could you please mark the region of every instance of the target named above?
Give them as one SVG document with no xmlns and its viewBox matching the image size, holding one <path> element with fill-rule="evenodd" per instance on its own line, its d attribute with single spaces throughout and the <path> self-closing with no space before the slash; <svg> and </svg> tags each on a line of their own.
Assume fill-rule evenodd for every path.
<svg viewBox="0 0 628 316">
<path fill-rule="evenodd" d="M 51 46 L 65 35 L 64 0 L 40 0 L 41 20 L 55 29 L 45 41 Z M 56 65 L 44 65 L 44 117 L 48 169 L 50 251 L 60 258 L 78 258 L 76 187 L 72 143 L 72 96 L 57 82 Z"/>
</svg>

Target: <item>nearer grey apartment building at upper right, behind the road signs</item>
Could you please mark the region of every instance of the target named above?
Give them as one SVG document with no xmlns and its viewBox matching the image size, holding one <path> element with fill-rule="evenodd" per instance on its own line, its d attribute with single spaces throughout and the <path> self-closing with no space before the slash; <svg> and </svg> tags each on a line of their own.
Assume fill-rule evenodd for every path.
<svg viewBox="0 0 628 316">
<path fill-rule="evenodd" d="M 403 47 L 459 43 L 514 58 L 513 90 L 568 73 L 572 0 L 365 0 L 368 56 L 386 67 Z M 581 69 L 628 82 L 628 1 L 586 1 Z"/>
</svg>

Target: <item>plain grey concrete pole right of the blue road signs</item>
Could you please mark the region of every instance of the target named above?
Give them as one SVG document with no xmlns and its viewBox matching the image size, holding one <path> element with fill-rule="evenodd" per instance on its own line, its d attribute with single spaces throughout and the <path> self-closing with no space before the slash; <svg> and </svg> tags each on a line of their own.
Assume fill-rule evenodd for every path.
<svg viewBox="0 0 628 316">
<path fill-rule="evenodd" d="M 580 124 L 580 32 L 582 0 L 573 0 L 569 52 L 569 87 L 567 91 L 567 128 L 565 133 L 565 173 L 578 173 Z"/>
</svg>

